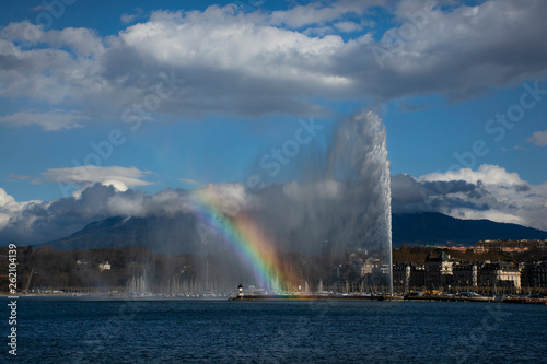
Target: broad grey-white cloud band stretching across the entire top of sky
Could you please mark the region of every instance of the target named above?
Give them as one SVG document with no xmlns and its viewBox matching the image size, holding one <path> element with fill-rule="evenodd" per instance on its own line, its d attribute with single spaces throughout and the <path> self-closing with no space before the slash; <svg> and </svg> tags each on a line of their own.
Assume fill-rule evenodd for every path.
<svg viewBox="0 0 547 364">
<path fill-rule="evenodd" d="M 401 25 L 340 37 L 370 23 L 374 7 Z M 386 99 L 431 93 L 458 99 L 545 75 L 547 48 L 538 45 L 546 12 L 547 3 L 532 0 L 449 8 L 341 0 L 249 13 L 231 4 L 158 11 L 108 37 L 69 27 L 31 40 L 28 23 L 12 23 L 0 30 L 0 96 L 45 102 L 46 114 L 83 104 L 101 110 L 94 118 L 119 118 L 153 94 L 160 72 L 173 71 L 185 83 L 155 115 L 318 115 L 326 110 L 317 94 L 362 99 L 376 96 L 379 85 Z M 28 115 L 22 120 L 38 122 Z M 72 116 L 48 130 L 80 121 Z"/>
</svg>

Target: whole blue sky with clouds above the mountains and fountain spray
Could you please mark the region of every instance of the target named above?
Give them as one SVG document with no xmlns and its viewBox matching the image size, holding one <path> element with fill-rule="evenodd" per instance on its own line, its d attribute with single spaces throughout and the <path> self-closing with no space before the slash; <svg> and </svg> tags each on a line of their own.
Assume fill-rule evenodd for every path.
<svg viewBox="0 0 547 364">
<path fill-rule="evenodd" d="M 118 195 L 306 184 L 368 110 L 394 212 L 547 230 L 544 1 L 0 7 L 0 244 L 120 214 Z"/>
</svg>

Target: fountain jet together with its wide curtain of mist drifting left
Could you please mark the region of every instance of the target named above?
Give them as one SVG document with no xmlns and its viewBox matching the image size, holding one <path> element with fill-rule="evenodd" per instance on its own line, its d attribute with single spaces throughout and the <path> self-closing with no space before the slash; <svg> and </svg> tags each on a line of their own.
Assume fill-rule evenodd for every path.
<svg viewBox="0 0 547 364">
<path fill-rule="evenodd" d="M 280 271 L 272 274 L 296 281 L 284 289 L 316 292 L 321 284 L 325 291 L 351 285 L 353 292 L 370 292 L 372 286 L 389 292 L 391 179 L 382 119 L 373 111 L 352 116 L 335 129 L 326 149 L 311 154 L 313 161 L 295 161 L 293 181 L 255 191 L 232 186 L 231 198 L 228 190 L 217 190 L 223 198 L 217 204 L 233 207 L 237 199 L 235 214 L 234 209 L 223 211 L 231 220 L 244 216 L 260 231 L 267 242 L 260 248 L 275 250 L 278 258 L 272 270 Z M 223 250 L 221 235 L 212 233 L 214 243 L 207 249 Z M 242 278 L 245 265 L 253 262 L 240 259 L 240 267 L 221 274 Z M 244 281 L 260 285 L 251 273 Z"/>
</svg>

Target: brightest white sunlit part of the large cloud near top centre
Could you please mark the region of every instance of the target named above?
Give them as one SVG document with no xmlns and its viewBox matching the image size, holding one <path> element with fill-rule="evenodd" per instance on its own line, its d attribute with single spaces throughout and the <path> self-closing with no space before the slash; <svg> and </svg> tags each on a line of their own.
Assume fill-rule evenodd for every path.
<svg viewBox="0 0 547 364">
<path fill-rule="evenodd" d="M 325 86 L 336 86 L 336 80 L 344 79 L 318 69 L 323 57 L 344 47 L 340 37 L 309 38 L 298 32 L 252 24 L 230 7 L 211 7 L 185 16 L 156 12 L 150 22 L 123 32 L 120 39 L 141 57 L 172 67 L 200 66 Z"/>
</svg>

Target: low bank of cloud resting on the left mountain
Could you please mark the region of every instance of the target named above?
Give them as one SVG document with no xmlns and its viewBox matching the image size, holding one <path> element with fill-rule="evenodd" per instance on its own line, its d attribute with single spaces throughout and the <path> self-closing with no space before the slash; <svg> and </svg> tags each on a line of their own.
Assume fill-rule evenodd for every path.
<svg viewBox="0 0 547 364">
<path fill-rule="evenodd" d="M 95 184 L 78 196 L 51 201 L 18 202 L 0 188 L 0 245 L 10 242 L 42 244 L 69 236 L 86 224 L 112 216 L 166 216 L 188 212 L 189 191 L 142 191 Z"/>
</svg>

